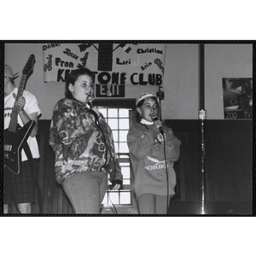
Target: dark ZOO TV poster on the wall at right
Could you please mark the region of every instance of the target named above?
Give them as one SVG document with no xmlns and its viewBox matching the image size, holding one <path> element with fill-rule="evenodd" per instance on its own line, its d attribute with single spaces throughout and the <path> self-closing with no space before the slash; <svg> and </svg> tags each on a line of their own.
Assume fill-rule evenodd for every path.
<svg viewBox="0 0 256 256">
<path fill-rule="evenodd" d="M 253 118 L 253 79 L 223 79 L 224 119 Z"/>
</svg>

